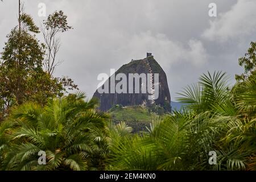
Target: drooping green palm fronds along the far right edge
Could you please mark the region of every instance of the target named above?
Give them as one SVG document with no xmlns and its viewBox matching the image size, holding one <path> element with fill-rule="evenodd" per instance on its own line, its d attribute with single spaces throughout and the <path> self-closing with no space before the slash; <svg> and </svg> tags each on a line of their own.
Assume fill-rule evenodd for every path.
<svg viewBox="0 0 256 182">
<path fill-rule="evenodd" d="M 256 170 L 256 75 L 234 86 L 236 117 L 226 126 L 224 141 L 232 143 L 246 169 Z M 234 152 L 235 153 L 235 152 Z"/>
</svg>

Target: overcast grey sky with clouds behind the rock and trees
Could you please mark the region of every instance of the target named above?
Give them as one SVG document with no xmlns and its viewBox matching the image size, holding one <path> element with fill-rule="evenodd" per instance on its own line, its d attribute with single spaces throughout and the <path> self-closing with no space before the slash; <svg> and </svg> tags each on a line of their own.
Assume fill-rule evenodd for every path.
<svg viewBox="0 0 256 182">
<path fill-rule="evenodd" d="M 88 96 L 100 81 L 131 59 L 152 52 L 167 74 L 172 100 L 207 71 L 241 73 L 238 58 L 256 41 L 255 0 L 23 0 L 39 25 L 46 13 L 63 10 L 74 30 L 61 35 L 55 76 L 69 76 Z M 216 3 L 217 17 L 208 15 Z M 16 26 L 18 0 L 0 2 L 0 47 Z"/>
</svg>

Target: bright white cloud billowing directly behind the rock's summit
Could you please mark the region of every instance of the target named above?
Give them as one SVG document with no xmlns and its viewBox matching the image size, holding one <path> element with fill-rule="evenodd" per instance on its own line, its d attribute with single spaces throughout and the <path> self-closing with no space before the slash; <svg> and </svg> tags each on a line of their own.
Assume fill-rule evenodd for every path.
<svg viewBox="0 0 256 182">
<path fill-rule="evenodd" d="M 140 59 L 146 56 L 146 52 L 152 52 L 166 69 L 174 64 L 203 67 L 208 57 L 200 40 L 191 39 L 187 44 L 183 44 L 168 39 L 164 34 L 153 35 L 150 31 L 127 38 L 123 46 L 115 51 L 119 55 L 125 55 L 127 52 L 134 59 Z"/>
</svg>

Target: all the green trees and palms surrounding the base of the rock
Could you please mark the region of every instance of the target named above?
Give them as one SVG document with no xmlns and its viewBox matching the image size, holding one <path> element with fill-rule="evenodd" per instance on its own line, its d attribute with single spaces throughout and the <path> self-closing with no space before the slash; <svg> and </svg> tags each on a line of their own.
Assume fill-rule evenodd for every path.
<svg viewBox="0 0 256 182">
<path fill-rule="evenodd" d="M 31 16 L 22 14 L 19 24 L 1 53 L 1 170 L 256 169 L 256 43 L 239 60 L 245 73 L 235 85 L 226 73 L 203 74 L 177 98 L 183 109 L 153 118 L 146 131 L 133 134 L 125 122 L 111 119 L 117 110 L 119 119 L 131 113 L 101 113 L 97 101 L 67 93 L 77 85 L 52 76 L 57 64 L 49 34 L 39 43 Z M 44 25 L 52 36 L 72 28 L 62 11 Z M 148 110 L 136 110 L 152 118 Z M 210 151 L 217 153 L 215 165 L 209 164 Z M 45 164 L 39 163 L 42 152 Z"/>
</svg>

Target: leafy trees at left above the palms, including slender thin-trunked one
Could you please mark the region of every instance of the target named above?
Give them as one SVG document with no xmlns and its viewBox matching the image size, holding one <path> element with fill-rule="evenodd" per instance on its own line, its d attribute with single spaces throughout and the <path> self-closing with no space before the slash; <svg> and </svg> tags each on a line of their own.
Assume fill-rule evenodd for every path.
<svg viewBox="0 0 256 182">
<path fill-rule="evenodd" d="M 7 117 L 10 108 L 15 105 L 28 101 L 44 105 L 48 99 L 63 96 L 67 90 L 78 89 L 71 78 L 55 78 L 51 75 L 53 70 L 51 73 L 44 71 L 46 49 L 53 49 L 56 44 L 40 44 L 35 35 L 40 32 L 39 28 L 30 15 L 22 13 L 19 22 L 20 27 L 13 28 L 7 35 L 7 42 L 1 52 L 0 121 Z M 72 28 L 67 25 L 67 16 L 63 11 L 49 15 L 48 21 L 44 23 L 56 32 Z"/>
</svg>

